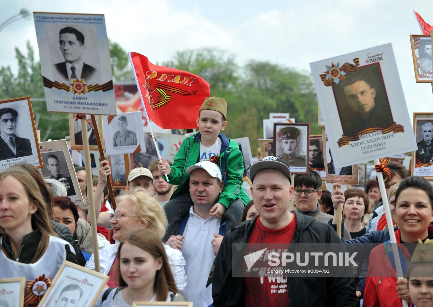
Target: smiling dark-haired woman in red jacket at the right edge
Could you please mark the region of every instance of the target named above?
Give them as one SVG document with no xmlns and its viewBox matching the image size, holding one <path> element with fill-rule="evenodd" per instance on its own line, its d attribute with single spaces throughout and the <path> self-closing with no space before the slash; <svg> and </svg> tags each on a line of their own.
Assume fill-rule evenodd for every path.
<svg viewBox="0 0 433 307">
<path fill-rule="evenodd" d="M 338 187 L 339 184 L 334 184 Z M 344 192 L 337 189 L 332 193 L 334 207 L 344 202 Z M 416 243 L 418 239 L 425 241 L 433 239 L 433 187 L 427 179 L 419 176 L 403 179 L 395 194 L 395 207 L 392 210 L 393 220 L 399 229 L 395 232 L 397 243 Z M 335 222 L 334 215 L 334 222 Z M 390 243 L 388 227 L 385 230 L 372 231 L 359 238 L 344 241 L 349 252 L 366 252 L 368 244 L 356 243 L 385 243 L 376 246 L 370 253 L 370 261 L 365 261 L 363 268 L 368 268 L 365 281 L 363 306 L 402 306 L 397 296 L 397 272 L 389 260 L 389 249 L 385 245 Z M 401 248 L 404 257 L 410 259 L 413 252 L 406 247 Z M 369 265 L 368 265 L 369 263 Z M 374 273 L 373 273 L 374 272 Z M 386 272 L 386 275 L 380 274 Z M 394 276 L 394 277 L 389 277 Z M 361 279 L 360 279 L 361 280 Z M 358 296 L 364 288 L 358 288 Z M 407 296 L 407 300 L 410 298 Z"/>
</svg>

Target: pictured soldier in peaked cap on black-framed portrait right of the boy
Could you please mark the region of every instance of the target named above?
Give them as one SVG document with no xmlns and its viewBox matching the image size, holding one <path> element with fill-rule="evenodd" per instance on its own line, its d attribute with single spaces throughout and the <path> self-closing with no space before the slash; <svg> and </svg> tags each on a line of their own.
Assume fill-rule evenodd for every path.
<svg viewBox="0 0 433 307">
<path fill-rule="evenodd" d="M 288 162 L 289 166 L 306 166 L 305 156 L 297 155 L 299 134 L 299 129 L 293 126 L 284 127 L 278 131 L 278 138 L 283 149 L 283 154 L 278 158 Z"/>
</svg>

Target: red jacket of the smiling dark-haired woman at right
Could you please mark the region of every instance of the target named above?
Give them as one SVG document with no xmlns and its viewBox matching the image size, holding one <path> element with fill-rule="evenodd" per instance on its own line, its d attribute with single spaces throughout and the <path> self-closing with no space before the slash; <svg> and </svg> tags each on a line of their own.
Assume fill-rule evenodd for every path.
<svg viewBox="0 0 433 307">
<path fill-rule="evenodd" d="M 397 243 L 400 243 L 400 230 L 395 232 Z M 429 233 L 433 233 L 433 226 L 429 226 Z M 404 246 L 399 246 L 404 252 L 407 260 L 410 254 Z M 379 277 L 380 272 L 394 272 L 395 277 Z M 389 276 L 389 274 L 387 274 Z M 363 307 L 402 307 L 401 300 L 397 295 L 397 271 L 392 267 L 391 262 L 385 253 L 383 243 L 376 246 L 371 254 L 368 264 L 368 273 L 365 281 Z"/>
</svg>

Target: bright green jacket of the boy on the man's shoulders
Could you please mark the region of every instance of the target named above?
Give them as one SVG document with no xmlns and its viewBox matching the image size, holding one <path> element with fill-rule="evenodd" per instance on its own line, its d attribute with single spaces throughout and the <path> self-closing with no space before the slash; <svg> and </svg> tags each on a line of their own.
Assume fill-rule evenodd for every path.
<svg viewBox="0 0 433 307">
<path fill-rule="evenodd" d="M 242 189 L 244 173 L 242 152 L 239 150 L 239 145 L 225 134 L 220 133 L 219 137 L 221 139 L 220 169 L 223 175 L 224 189 L 218 202 L 228 208 L 229 204 L 239 198 L 246 205 L 249 198 Z M 184 139 L 174 158 L 168 180 L 171 184 L 178 185 L 178 188 L 171 195 L 171 199 L 181 194 L 189 178 L 186 170 L 197 163 L 199 156 L 200 132 L 197 132 Z"/>
</svg>

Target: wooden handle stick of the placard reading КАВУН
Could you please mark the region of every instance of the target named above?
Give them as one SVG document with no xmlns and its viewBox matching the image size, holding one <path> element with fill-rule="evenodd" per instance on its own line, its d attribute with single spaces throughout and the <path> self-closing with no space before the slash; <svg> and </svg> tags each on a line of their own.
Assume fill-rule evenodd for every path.
<svg viewBox="0 0 433 307">
<path fill-rule="evenodd" d="M 94 116 L 92 116 L 93 123 Z M 93 125 L 97 126 L 97 125 Z M 97 131 L 95 130 L 96 139 L 99 138 Z M 81 136 L 83 138 L 83 149 L 84 149 L 84 160 L 86 162 L 86 179 L 87 179 L 87 200 L 89 202 L 90 211 L 90 223 L 92 227 L 92 244 L 93 244 L 93 257 L 95 260 L 95 271 L 100 272 L 99 267 L 99 248 L 98 248 L 98 236 L 96 229 L 96 212 L 95 212 L 95 201 L 93 198 L 93 180 L 92 180 L 92 165 L 90 163 L 90 149 L 89 149 L 89 137 L 87 135 L 87 123 L 86 119 L 81 118 Z"/>
</svg>

